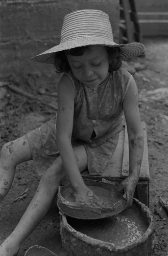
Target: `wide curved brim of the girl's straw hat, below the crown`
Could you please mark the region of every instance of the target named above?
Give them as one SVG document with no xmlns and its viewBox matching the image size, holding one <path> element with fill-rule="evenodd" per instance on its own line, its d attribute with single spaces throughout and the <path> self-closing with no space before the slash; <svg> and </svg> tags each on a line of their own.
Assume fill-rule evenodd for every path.
<svg viewBox="0 0 168 256">
<path fill-rule="evenodd" d="M 121 60 L 140 56 L 145 50 L 145 46 L 142 45 L 140 42 L 132 42 L 131 44 L 118 45 L 111 40 L 107 40 L 101 37 L 99 38 L 87 37 L 87 38 L 79 38 L 76 40 L 61 42 L 59 45 L 54 46 L 49 50 L 32 57 L 31 59 L 37 62 L 54 64 L 55 56 L 58 52 L 73 49 L 76 47 L 88 46 L 88 45 L 119 47 L 121 49 L 121 52 L 120 52 Z"/>
</svg>

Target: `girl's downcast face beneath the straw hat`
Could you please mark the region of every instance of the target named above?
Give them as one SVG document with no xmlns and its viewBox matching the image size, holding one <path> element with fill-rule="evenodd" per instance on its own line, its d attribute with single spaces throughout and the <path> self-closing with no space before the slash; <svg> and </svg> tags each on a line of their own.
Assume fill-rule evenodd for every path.
<svg viewBox="0 0 168 256">
<path fill-rule="evenodd" d="M 88 87 L 98 87 L 108 76 L 109 57 L 104 46 L 89 46 L 82 56 L 67 54 L 74 76 Z"/>
</svg>

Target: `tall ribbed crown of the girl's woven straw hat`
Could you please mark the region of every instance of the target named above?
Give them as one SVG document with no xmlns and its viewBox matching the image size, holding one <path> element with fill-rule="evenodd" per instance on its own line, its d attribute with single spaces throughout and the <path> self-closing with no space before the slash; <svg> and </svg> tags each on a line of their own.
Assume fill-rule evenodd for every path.
<svg viewBox="0 0 168 256">
<path fill-rule="evenodd" d="M 61 42 L 97 37 L 113 41 L 109 16 L 100 10 L 79 10 L 64 17 Z"/>
</svg>

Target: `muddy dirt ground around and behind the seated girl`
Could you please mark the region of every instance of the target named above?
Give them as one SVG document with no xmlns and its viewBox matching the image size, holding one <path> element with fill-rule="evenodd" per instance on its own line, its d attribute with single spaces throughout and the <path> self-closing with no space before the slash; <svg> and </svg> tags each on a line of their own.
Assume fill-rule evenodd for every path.
<svg viewBox="0 0 168 256">
<path fill-rule="evenodd" d="M 147 124 L 150 209 L 155 219 L 155 236 L 149 255 L 166 256 L 168 215 L 160 206 L 159 197 L 167 191 L 168 182 L 168 38 L 145 39 L 144 44 L 145 57 L 131 60 L 125 65 L 128 65 L 127 68 L 134 74 L 137 82 L 141 120 Z M 30 74 L 21 78 L 14 75 L 9 77 L 10 85 L 14 85 L 15 88 L 0 82 L 1 147 L 5 142 L 31 131 L 55 114 L 57 80 L 58 77 L 55 81 L 49 77 L 46 84 L 46 78 Z M 37 100 L 30 95 L 22 96 L 19 92 L 14 92 L 14 89 L 29 92 L 37 97 Z M 53 92 L 55 96 L 51 95 Z M 11 233 L 26 210 L 39 180 L 38 175 L 32 170 L 31 161 L 17 166 L 12 188 L 2 203 L 0 244 Z M 67 255 L 61 244 L 56 201 L 23 243 L 18 256 L 23 256 L 30 246 L 36 244 L 52 250 L 58 256 Z"/>
</svg>

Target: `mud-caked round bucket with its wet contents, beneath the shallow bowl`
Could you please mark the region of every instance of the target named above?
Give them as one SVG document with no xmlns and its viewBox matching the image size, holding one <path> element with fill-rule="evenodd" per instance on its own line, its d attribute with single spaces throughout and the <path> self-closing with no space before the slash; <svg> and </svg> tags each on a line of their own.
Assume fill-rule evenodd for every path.
<svg viewBox="0 0 168 256">
<path fill-rule="evenodd" d="M 101 220 L 79 220 L 61 213 L 60 218 L 68 256 L 147 256 L 152 245 L 153 215 L 137 199 L 130 208 Z"/>
</svg>

